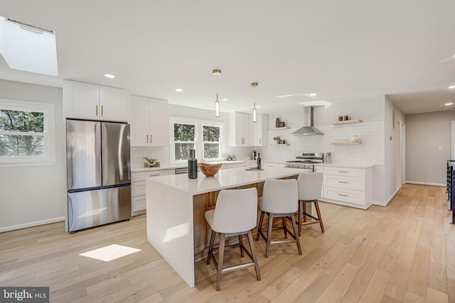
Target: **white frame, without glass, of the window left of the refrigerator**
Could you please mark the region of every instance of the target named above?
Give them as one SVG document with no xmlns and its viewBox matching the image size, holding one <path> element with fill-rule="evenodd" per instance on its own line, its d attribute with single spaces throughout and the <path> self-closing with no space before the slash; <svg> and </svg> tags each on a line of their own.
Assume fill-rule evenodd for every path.
<svg viewBox="0 0 455 303">
<path fill-rule="evenodd" d="M 0 167 L 55 165 L 55 106 L 50 103 L 20 101 L 0 98 L 0 109 L 11 111 L 35 111 L 43 113 L 43 156 L 0 157 Z M 1 135 L 17 135 L 16 131 L 0 131 Z M 36 135 L 34 132 L 21 135 Z"/>
</svg>

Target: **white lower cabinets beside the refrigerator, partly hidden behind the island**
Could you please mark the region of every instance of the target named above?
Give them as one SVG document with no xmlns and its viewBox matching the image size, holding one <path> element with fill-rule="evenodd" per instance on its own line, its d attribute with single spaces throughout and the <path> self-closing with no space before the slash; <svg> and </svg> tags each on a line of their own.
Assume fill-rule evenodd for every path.
<svg viewBox="0 0 455 303">
<path fill-rule="evenodd" d="M 146 172 L 132 172 L 131 182 L 131 211 L 133 216 L 144 214 L 146 209 L 145 180 L 148 177 L 174 175 L 175 170 L 149 170 Z"/>
</svg>

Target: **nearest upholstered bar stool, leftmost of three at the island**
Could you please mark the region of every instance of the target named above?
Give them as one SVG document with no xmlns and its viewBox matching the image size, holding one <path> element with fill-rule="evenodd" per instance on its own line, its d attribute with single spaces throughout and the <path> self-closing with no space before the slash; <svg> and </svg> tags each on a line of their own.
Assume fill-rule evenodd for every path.
<svg viewBox="0 0 455 303">
<path fill-rule="evenodd" d="M 205 220 L 212 229 L 210 236 L 210 246 L 208 248 L 207 264 L 210 259 L 215 263 L 217 270 L 216 290 L 220 290 L 221 276 L 225 272 L 255 267 L 257 280 L 261 280 L 259 273 L 259 264 L 251 230 L 255 228 L 257 222 L 257 189 L 255 187 L 248 189 L 225 189 L 221 190 L 216 200 L 215 209 L 205 211 Z M 216 233 L 220 234 L 220 244 L 213 247 Z M 247 235 L 250 250 L 243 245 L 242 237 Z M 225 238 L 238 236 L 239 243 L 225 246 Z M 226 248 L 240 248 L 240 256 L 243 258 L 244 252 L 250 257 L 250 263 L 223 268 L 224 250 Z M 218 251 L 218 261 L 215 253 Z"/>
</svg>

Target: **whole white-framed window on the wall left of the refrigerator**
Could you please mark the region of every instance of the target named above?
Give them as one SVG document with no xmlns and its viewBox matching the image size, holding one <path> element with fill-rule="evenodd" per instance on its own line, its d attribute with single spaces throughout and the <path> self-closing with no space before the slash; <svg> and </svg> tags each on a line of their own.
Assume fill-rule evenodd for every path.
<svg viewBox="0 0 455 303">
<path fill-rule="evenodd" d="M 54 106 L 0 99 L 0 165 L 55 161 Z"/>
</svg>

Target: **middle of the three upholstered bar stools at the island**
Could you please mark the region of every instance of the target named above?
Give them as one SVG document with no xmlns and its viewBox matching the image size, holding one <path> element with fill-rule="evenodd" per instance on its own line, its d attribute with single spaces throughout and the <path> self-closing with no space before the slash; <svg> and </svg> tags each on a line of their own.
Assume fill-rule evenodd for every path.
<svg viewBox="0 0 455 303">
<path fill-rule="evenodd" d="M 297 236 L 297 225 L 294 217 L 294 214 L 299 207 L 297 180 L 265 180 L 262 197 L 258 199 L 258 204 L 261 209 L 261 216 L 257 228 L 256 241 L 259 240 L 260 235 L 267 242 L 265 258 L 269 258 L 270 245 L 279 243 L 296 243 L 299 255 L 301 255 L 300 241 Z M 262 227 L 264 214 L 269 216 L 269 224 L 267 224 L 267 227 Z M 273 227 L 274 218 L 282 218 L 283 226 Z M 287 228 L 287 219 L 291 220 L 294 232 L 289 231 Z M 274 229 L 283 229 L 284 239 L 272 241 L 272 230 Z M 267 236 L 264 235 L 263 231 L 265 230 L 267 230 Z M 287 233 L 294 239 L 287 239 Z"/>
</svg>

